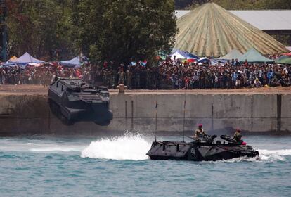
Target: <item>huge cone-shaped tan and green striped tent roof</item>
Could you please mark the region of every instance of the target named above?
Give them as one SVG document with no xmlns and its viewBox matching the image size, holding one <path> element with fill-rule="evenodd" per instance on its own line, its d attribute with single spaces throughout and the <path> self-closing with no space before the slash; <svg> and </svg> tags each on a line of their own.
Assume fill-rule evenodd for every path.
<svg viewBox="0 0 291 197">
<path fill-rule="evenodd" d="M 217 4 L 195 8 L 177 20 L 175 48 L 198 56 L 225 56 L 232 49 L 245 53 L 254 48 L 260 53 L 282 53 L 285 46 Z"/>
</svg>

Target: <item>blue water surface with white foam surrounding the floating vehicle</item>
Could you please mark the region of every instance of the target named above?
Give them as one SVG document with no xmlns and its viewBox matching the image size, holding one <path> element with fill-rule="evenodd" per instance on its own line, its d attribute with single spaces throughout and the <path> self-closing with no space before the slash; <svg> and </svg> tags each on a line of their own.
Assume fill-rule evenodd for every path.
<svg viewBox="0 0 291 197">
<path fill-rule="evenodd" d="M 153 139 L 1 138 L 0 196 L 291 196 L 290 136 L 247 136 L 260 158 L 218 162 L 149 160 Z"/>
</svg>

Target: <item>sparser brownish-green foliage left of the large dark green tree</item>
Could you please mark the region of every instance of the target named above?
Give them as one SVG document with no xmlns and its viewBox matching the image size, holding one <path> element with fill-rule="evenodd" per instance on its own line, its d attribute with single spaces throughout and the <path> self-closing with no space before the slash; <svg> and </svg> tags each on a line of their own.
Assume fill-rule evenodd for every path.
<svg viewBox="0 0 291 197">
<path fill-rule="evenodd" d="M 65 0 L 6 1 L 8 4 L 8 52 L 25 51 L 39 58 L 62 58 L 72 51 L 70 9 Z M 58 51 L 58 52 L 57 52 Z M 60 54 L 60 56 L 58 56 Z"/>
</svg>

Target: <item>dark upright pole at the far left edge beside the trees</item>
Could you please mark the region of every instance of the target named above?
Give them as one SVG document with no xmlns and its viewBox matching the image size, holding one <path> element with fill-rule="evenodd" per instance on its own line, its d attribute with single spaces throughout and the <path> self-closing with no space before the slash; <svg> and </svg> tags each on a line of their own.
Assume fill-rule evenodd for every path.
<svg viewBox="0 0 291 197">
<path fill-rule="evenodd" d="M 6 17 L 7 17 L 7 6 L 5 0 L 0 0 L 1 6 L 1 37 L 2 37 L 2 61 L 7 61 L 7 24 L 6 24 Z"/>
</svg>

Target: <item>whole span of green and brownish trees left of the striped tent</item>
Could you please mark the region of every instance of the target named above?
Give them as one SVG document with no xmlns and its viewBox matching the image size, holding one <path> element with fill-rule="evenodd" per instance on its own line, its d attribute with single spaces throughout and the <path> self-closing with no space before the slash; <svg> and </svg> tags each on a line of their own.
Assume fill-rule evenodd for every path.
<svg viewBox="0 0 291 197">
<path fill-rule="evenodd" d="M 46 60 L 153 58 L 174 46 L 174 0 L 6 0 L 8 53 Z M 57 52 L 57 53 L 56 53 Z"/>
</svg>

